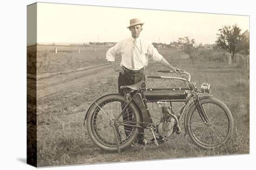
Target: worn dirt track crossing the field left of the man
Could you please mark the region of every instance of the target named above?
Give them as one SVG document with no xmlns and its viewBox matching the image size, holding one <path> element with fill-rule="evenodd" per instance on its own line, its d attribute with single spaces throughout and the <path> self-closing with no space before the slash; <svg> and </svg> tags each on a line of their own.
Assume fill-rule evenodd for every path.
<svg viewBox="0 0 256 170">
<path fill-rule="evenodd" d="M 37 82 L 37 97 L 49 97 L 84 87 L 89 82 L 108 77 L 113 71 L 111 65 L 106 64 L 86 70 L 78 70 L 39 79 Z"/>
</svg>

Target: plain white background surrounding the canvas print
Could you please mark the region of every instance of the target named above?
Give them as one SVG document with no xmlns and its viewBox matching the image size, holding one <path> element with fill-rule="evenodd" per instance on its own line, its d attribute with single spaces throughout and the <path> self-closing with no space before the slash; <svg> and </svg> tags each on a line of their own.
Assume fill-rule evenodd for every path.
<svg viewBox="0 0 256 170">
<path fill-rule="evenodd" d="M 182 0 L 178 1 L 118 1 L 118 0 L 44 0 L 45 2 L 86 4 L 98 6 L 118 6 L 135 7 L 146 9 L 164 9 L 189 12 L 207 12 L 207 13 L 225 13 L 225 14 L 243 14 L 250 15 L 250 154 L 225 157 L 202 157 L 171 159 L 161 161 L 145 161 L 134 163 L 118 164 L 94 164 L 83 166 L 67 166 L 47 168 L 48 170 L 85 170 L 85 169 L 252 169 L 253 157 L 255 157 L 255 105 L 253 106 L 255 96 L 255 76 L 256 71 L 253 68 L 255 63 L 254 50 L 255 44 L 255 9 L 253 2 L 249 0 L 215 0 L 206 2 L 205 0 Z M 25 164 L 26 160 L 26 6 L 34 3 L 33 0 L 24 1 L 4 1 L 1 3 L 1 54 L 0 89 L 2 91 L 0 108 L 1 113 L 1 169 L 32 169 L 33 167 Z M 232 6 L 230 6 L 232 5 Z M 34 168 L 33 168 L 34 169 Z"/>
</svg>

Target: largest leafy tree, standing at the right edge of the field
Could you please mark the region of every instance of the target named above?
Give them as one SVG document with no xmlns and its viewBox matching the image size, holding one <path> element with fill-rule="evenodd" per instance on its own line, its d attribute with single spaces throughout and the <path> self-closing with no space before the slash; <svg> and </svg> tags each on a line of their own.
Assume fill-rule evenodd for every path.
<svg viewBox="0 0 256 170">
<path fill-rule="evenodd" d="M 241 34 L 241 29 L 237 25 L 224 25 L 218 31 L 216 45 L 227 50 L 233 59 L 237 52 L 243 50 L 245 36 Z"/>
</svg>

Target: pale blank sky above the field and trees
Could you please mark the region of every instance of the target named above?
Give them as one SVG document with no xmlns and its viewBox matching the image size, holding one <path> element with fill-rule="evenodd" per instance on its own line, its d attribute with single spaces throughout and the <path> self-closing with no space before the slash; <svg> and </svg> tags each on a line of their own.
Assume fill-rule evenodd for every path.
<svg viewBox="0 0 256 170">
<path fill-rule="evenodd" d="M 88 43 L 118 42 L 131 36 L 129 20 L 145 24 L 141 38 L 169 44 L 179 37 L 194 38 L 195 43 L 214 44 L 223 25 L 237 24 L 249 30 L 249 16 L 191 13 L 121 7 L 37 4 L 37 42 Z"/>
</svg>

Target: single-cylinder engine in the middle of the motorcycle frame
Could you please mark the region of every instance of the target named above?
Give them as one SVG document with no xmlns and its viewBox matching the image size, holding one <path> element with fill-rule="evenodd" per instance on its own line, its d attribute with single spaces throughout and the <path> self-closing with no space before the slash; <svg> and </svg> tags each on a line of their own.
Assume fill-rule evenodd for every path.
<svg viewBox="0 0 256 170">
<path fill-rule="evenodd" d="M 169 114 L 170 107 L 166 102 L 160 103 L 160 112 L 162 114 L 161 123 L 158 125 L 158 133 L 168 138 L 173 133 L 173 126 L 175 125 L 175 119 Z"/>
</svg>

